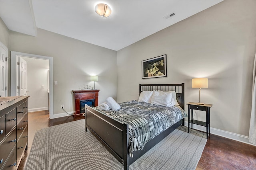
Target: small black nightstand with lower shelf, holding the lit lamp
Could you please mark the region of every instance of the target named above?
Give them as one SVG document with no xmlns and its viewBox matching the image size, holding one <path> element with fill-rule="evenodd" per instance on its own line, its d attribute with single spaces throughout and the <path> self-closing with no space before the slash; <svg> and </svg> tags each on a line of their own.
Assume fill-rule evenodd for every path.
<svg viewBox="0 0 256 170">
<path fill-rule="evenodd" d="M 187 103 L 188 105 L 188 133 L 189 133 L 189 125 L 191 123 L 191 129 L 193 129 L 193 124 L 200 125 L 206 127 L 206 139 L 208 139 L 208 135 L 210 135 L 210 107 L 212 104 L 196 104 L 193 102 Z M 190 120 L 190 109 L 191 109 L 191 120 Z M 193 110 L 200 110 L 206 112 L 206 122 L 198 121 L 193 119 Z"/>
</svg>

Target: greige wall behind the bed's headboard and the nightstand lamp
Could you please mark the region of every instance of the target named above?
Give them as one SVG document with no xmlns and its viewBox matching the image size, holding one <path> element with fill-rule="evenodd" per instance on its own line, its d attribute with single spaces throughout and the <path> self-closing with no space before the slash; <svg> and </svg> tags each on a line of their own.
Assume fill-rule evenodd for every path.
<svg viewBox="0 0 256 170">
<path fill-rule="evenodd" d="M 182 82 L 185 103 L 198 102 L 199 90 L 192 88 L 191 79 L 208 78 L 201 102 L 213 104 L 211 127 L 248 136 L 255 7 L 255 0 L 225 0 L 118 51 L 118 102 L 138 99 L 140 83 Z M 168 77 L 142 80 L 141 61 L 164 54 Z M 205 121 L 202 113 L 197 111 L 195 119 Z"/>
</svg>

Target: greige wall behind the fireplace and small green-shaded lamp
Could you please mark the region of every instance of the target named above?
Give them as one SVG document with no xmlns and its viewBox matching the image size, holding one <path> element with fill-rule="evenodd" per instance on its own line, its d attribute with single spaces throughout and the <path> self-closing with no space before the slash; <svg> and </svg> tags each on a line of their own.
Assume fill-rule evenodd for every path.
<svg viewBox="0 0 256 170">
<path fill-rule="evenodd" d="M 90 75 L 98 75 L 99 104 L 116 98 L 116 51 L 65 37 L 43 29 L 37 37 L 10 31 L 10 51 L 53 57 L 54 114 L 73 111 L 72 90 L 93 86 Z"/>
</svg>

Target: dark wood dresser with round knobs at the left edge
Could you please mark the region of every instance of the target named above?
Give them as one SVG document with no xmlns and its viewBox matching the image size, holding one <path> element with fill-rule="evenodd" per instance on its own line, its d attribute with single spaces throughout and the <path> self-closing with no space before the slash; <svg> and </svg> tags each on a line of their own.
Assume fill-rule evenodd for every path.
<svg viewBox="0 0 256 170">
<path fill-rule="evenodd" d="M 28 97 L 0 97 L 0 170 L 15 170 L 28 146 Z"/>
</svg>

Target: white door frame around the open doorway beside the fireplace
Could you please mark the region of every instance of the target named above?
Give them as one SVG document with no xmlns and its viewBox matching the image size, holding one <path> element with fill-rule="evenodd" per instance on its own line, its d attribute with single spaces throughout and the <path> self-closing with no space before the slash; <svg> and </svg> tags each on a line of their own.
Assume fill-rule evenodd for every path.
<svg viewBox="0 0 256 170">
<path fill-rule="evenodd" d="M 17 94 L 17 56 L 49 60 L 49 117 L 50 119 L 53 119 L 53 58 L 42 55 L 34 55 L 28 53 L 20 53 L 17 51 L 11 51 L 11 96 L 16 96 Z"/>
</svg>

